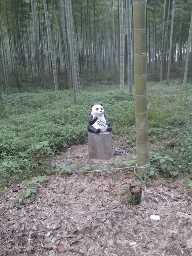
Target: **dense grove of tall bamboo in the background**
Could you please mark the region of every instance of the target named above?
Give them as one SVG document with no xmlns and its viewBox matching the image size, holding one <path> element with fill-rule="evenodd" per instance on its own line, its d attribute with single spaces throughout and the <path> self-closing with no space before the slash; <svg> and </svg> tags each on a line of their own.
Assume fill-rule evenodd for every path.
<svg viewBox="0 0 192 256">
<path fill-rule="evenodd" d="M 147 72 L 170 79 L 183 66 L 186 86 L 192 0 L 147 0 Z M 116 86 L 132 93 L 133 2 L 130 0 L 1 0 L 0 91 L 67 81 L 80 95 L 80 77 L 111 72 Z"/>
</svg>

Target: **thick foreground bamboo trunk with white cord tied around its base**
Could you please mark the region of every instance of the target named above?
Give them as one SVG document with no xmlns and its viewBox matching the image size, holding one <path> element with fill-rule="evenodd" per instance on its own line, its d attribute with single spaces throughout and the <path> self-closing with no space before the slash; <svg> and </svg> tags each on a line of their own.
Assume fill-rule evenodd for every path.
<svg viewBox="0 0 192 256">
<path fill-rule="evenodd" d="M 147 120 L 146 0 L 133 0 L 137 174 L 149 171 Z M 146 168 L 145 168 L 146 167 Z"/>
</svg>

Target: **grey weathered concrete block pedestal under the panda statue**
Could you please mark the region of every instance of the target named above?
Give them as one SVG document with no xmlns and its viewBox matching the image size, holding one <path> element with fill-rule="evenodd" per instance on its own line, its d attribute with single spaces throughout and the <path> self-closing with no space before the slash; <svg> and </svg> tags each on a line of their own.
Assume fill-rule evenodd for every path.
<svg viewBox="0 0 192 256">
<path fill-rule="evenodd" d="M 89 159 L 110 159 L 112 155 L 111 132 L 100 134 L 88 132 Z"/>
</svg>

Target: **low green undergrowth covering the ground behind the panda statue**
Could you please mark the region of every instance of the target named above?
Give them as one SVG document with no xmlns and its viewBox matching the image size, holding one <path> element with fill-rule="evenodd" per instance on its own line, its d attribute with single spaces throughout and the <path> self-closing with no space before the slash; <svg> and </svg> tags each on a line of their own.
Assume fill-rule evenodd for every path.
<svg viewBox="0 0 192 256">
<path fill-rule="evenodd" d="M 128 88 L 125 88 L 128 91 Z M 150 150 L 170 155 L 176 173 L 191 170 L 190 90 L 176 80 L 148 83 Z M 0 186 L 51 173 L 49 159 L 87 140 L 91 104 L 103 103 L 114 143 L 127 137 L 135 146 L 134 97 L 112 86 L 84 88 L 76 105 L 71 90 L 3 95 L 0 106 Z M 123 139 L 124 140 L 124 139 Z M 126 143 L 122 141 L 122 143 Z M 154 153 L 154 154 L 155 154 Z M 180 167 L 179 167 L 180 166 Z"/>
</svg>

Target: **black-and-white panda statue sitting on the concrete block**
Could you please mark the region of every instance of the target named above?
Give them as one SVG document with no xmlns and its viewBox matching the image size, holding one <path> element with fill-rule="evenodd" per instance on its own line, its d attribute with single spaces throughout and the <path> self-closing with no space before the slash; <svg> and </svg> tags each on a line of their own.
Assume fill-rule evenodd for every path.
<svg viewBox="0 0 192 256">
<path fill-rule="evenodd" d="M 112 131 L 109 120 L 104 114 L 103 104 L 91 105 L 91 110 L 87 126 L 88 131 L 97 134 L 104 131 Z"/>
</svg>

